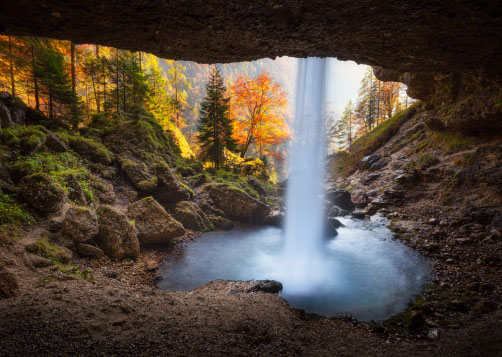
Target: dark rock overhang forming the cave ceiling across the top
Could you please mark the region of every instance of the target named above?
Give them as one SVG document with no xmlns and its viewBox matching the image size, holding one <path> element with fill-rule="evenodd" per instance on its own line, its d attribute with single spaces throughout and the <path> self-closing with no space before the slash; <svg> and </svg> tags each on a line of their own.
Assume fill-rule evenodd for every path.
<svg viewBox="0 0 502 357">
<path fill-rule="evenodd" d="M 457 71 L 500 81 L 501 14 L 496 0 L 21 0 L 2 5 L 0 32 L 205 63 L 330 56 L 401 73 Z"/>
</svg>

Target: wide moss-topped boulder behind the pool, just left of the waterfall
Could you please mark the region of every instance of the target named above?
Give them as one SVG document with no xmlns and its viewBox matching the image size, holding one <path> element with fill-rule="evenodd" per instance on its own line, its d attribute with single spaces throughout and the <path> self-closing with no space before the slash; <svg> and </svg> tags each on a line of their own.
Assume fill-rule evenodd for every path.
<svg viewBox="0 0 502 357">
<path fill-rule="evenodd" d="M 228 184 L 209 184 L 204 187 L 212 201 L 233 220 L 259 224 L 270 213 L 270 208 L 246 192 Z"/>
</svg>

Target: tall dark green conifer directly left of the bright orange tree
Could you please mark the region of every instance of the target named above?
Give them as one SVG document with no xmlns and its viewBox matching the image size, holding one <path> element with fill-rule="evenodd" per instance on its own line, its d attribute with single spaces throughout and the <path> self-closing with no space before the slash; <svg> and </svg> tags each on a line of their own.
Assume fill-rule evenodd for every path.
<svg viewBox="0 0 502 357">
<path fill-rule="evenodd" d="M 201 156 L 214 162 L 216 169 L 223 163 L 224 149 L 236 150 L 229 118 L 229 98 L 225 98 L 225 85 L 220 70 L 214 67 L 206 84 L 206 97 L 200 109 L 199 142 Z"/>
</svg>

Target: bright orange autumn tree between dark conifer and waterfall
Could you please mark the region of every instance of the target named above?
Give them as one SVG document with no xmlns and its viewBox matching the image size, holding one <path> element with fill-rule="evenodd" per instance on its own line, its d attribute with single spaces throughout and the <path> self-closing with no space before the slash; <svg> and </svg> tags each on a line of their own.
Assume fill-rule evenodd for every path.
<svg viewBox="0 0 502 357">
<path fill-rule="evenodd" d="M 282 115 L 287 104 L 286 93 L 268 72 L 256 78 L 239 76 L 231 94 L 233 137 L 240 145 L 241 157 L 246 156 L 252 144 L 263 157 L 267 147 L 289 139 L 289 127 Z"/>
</svg>

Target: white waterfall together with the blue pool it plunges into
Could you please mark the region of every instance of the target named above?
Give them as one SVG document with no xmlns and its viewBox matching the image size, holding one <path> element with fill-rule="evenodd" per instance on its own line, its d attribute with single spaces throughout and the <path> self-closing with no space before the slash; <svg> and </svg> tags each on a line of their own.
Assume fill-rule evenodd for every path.
<svg viewBox="0 0 502 357">
<path fill-rule="evenodd" d="M 340 218 L 345 227 L 338 236 L 323 236 L 329 62 L 298 61 L 284 229 L 207 233 L 167 259 L 161 289 L 189 290 L 214 279 L 274 279 L 292 306 L 361 320 L 390 317 L 420 292 L 427 262 L 392 239 L 384 218 Z"/>
</svg>

